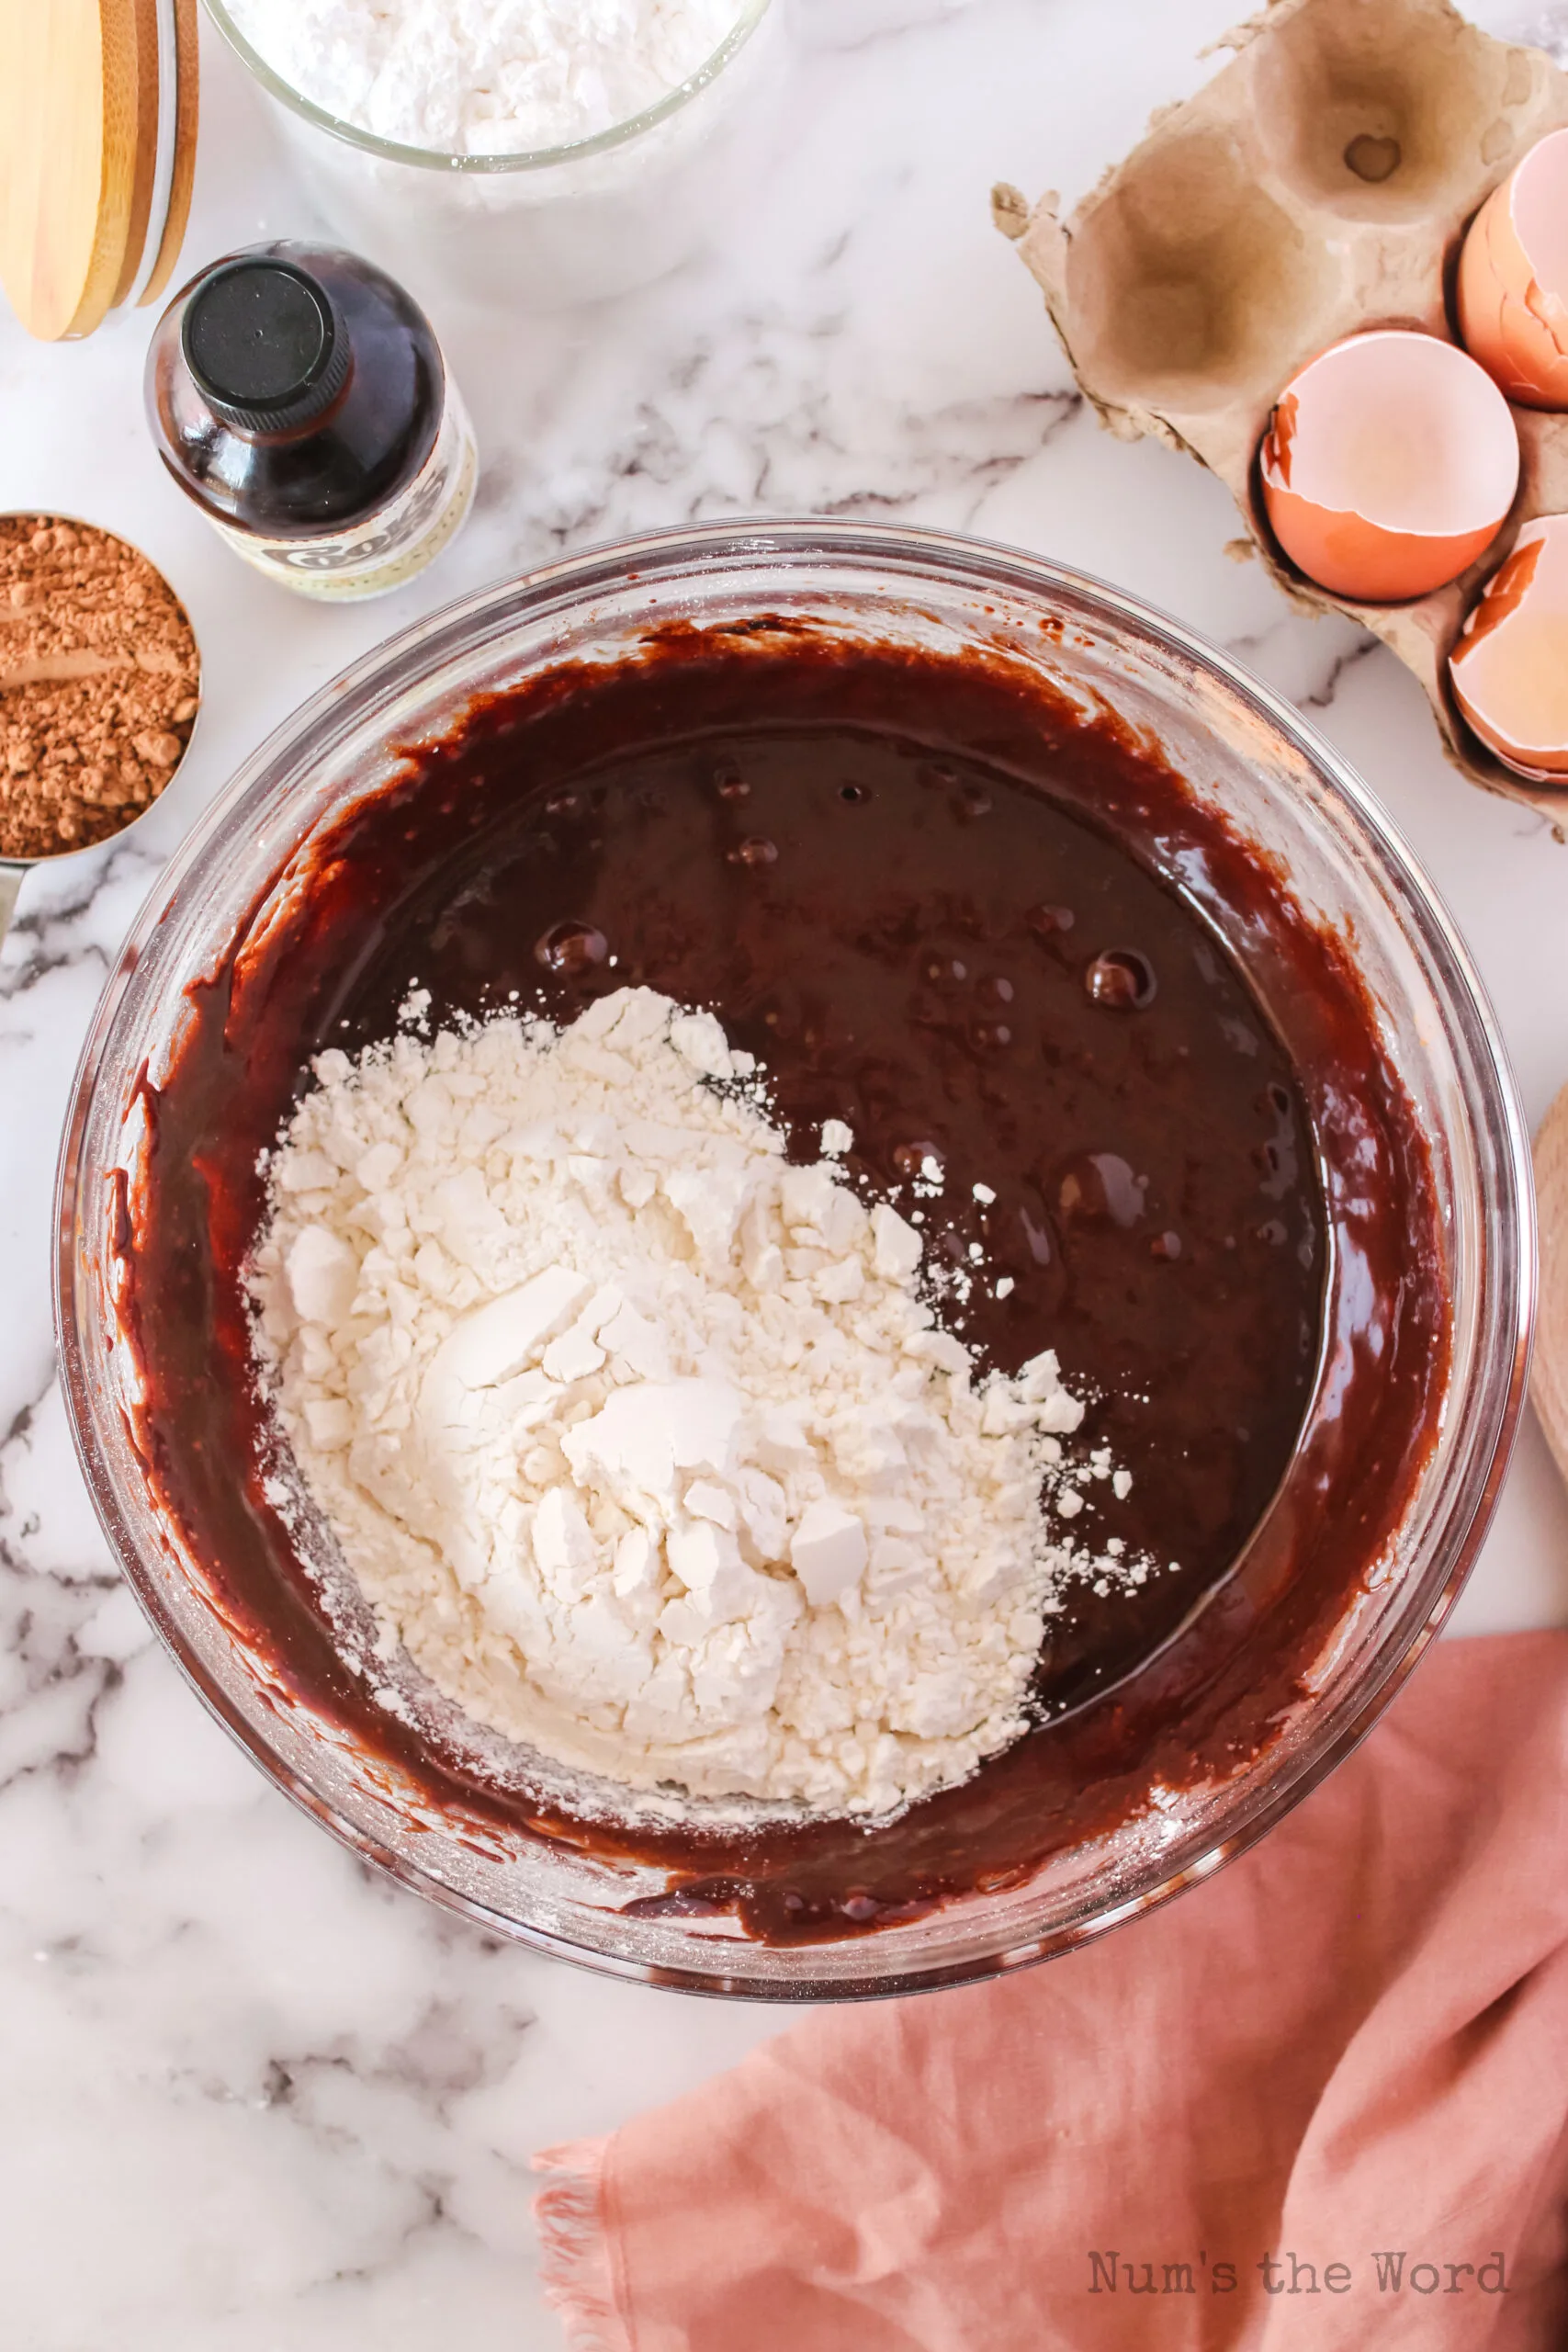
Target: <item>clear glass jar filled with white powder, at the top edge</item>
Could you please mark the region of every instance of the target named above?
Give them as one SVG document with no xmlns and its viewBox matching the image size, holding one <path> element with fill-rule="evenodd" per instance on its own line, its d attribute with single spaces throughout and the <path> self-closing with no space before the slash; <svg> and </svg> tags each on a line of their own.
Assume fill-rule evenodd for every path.
<svg viewBox="0 0 1568 2352">
<path fill-rule="evenodd" d="M 324 219 L 423 301 L 555 310 L 733 219 L 788 0 L 205 0 Z"/>
</svg>

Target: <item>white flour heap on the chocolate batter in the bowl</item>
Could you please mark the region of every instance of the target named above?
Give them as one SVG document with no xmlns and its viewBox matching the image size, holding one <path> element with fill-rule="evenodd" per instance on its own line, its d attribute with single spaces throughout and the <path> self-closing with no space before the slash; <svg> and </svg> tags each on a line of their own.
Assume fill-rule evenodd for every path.
<svg viewBox="0 0 1568 2352">
<path fill-rule="evenodd" d="M 788 1164 L 710 1014 L 632 988 L 315 1075 L 266 1385 L 383 1646 L 468 1715 L 632 1788 L 884 1813 L 1018 1736 L 1065 1576 L 1143 1581 L 1048 1531 L 1041 1482 L 1070 1517 L 1112 1475 L 1065 1479 L 1056 1357 L 976 1383 L 919 1232 Z"/>
</svg>

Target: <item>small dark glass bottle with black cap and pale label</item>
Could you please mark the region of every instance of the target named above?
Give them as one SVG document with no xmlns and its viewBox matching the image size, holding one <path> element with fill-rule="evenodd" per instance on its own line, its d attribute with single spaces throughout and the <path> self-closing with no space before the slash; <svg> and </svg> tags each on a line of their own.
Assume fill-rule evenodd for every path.
<svg viewBox="0 0 1568 2352">
<path fill-rule="evenodd" d="M 146 405 L 186 496 L 299 595 L 388 595 L 468 520 L 475 440 L 430 320 L 336 247 L 252 245 L 193 278 Z"/>
</svg>

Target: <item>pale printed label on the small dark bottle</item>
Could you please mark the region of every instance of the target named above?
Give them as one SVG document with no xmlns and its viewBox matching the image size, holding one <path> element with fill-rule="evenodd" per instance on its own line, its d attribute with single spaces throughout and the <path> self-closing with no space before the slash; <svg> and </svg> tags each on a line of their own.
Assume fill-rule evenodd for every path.
<svg viewBox="0 0 1568 2352">
<path fill-rule="evenodd" d="M 294 588 L 296 595 L 348 602 L 388 595 L 423 572 L 463 529 L 477 480 L 473 426 L 449 381 L 435 449 L 409 487 L 369 522 L 322 539 L 263 539 L 256 532 L 237 532 L 230 522 L 214 517 L 209 522 L 235 555 L 284 588 Z"/>
</svg>

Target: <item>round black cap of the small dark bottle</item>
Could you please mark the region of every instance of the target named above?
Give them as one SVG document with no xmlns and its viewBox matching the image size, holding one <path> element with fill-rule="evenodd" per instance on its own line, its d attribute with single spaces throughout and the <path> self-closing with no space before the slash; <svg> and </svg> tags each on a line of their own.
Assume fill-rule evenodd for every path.
<svg viewBox="0 0 1568 2352">
<path fill-rule="evenodd" d="M 186 303 L 186 367 L 207 407 L 242 433 L 296 433 L 331 407 L 350 367 L 327 287 L 294 261 L 223 261 Z"/>
</svg>

